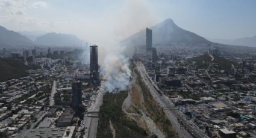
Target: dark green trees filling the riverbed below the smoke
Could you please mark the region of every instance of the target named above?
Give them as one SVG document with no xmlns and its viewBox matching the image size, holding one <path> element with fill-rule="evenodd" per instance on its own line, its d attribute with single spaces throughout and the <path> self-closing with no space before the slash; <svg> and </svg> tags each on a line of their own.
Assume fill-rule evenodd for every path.
<svg viewBox="0 0 256 138">
<path fill-rule="evenodd" d="M 113 137 L 110 121 L 116 130 L 116 137 L 149 137 L 136 121 L 128 118 L 122 111 L 122 103 L 127 94 L 127 91 L 123 91 L 104 95 L 103 104 L 99 110 L 97 138 Z"/>
</svg>

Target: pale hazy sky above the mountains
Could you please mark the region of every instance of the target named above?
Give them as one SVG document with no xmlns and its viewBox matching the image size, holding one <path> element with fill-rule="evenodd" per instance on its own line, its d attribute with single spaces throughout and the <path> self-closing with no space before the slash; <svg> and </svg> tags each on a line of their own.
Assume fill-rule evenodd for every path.
<svg viewBox="0 0 256 138">
<path fill-rule="evenodd" d="M 95 42 L 120 40 L 170 18 L 205 38 L 239 38 L 256 35 L 255 6 L 255 0 L 0 0 L 0 25 Z"/>
</svg>

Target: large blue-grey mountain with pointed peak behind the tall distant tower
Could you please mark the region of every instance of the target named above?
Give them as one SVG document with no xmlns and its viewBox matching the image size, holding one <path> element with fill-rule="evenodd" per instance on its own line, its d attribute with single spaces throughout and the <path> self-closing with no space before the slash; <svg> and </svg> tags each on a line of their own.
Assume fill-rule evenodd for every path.
<svg viewBox="0 0 256 138">
<path fill-rule="evenodd" d="M 186 31 L 175 25 L 172 19 L 166 19 L 158 25 L 152 26 L 152 43 L 154 46 L 169 46 L 172 44 L 208 44 L 206 40 L 193 32 Z M 145 45 L 146 29 L 137 32 L 131 37 L 122 41 L 126 46 L 141 46 Z"/>
</svg>

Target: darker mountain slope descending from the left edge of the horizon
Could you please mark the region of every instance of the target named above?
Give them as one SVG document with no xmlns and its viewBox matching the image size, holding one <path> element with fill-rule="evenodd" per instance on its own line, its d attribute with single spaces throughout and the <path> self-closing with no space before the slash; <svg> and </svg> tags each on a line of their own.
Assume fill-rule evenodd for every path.
<svg viewBox="0 0 256 138">
<path fill-rule="evenodd" d="M 0 26 L 0 46 L 31 46 L 33 44 L 33 41 L 27 37 Z"/>
</svg>

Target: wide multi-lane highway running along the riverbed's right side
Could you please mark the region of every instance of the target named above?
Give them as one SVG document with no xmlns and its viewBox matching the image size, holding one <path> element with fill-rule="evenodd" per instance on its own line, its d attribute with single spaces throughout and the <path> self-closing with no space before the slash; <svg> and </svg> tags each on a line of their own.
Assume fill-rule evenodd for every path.
<svg viewBox="0 0 256 138">
<path fill-rule="evenodd" d="M 160 104 L 161 107 L 175 107 L 175 105 L 172 103 L 172 101 L 169 100 L 168 97 L 166 97 L 165 95 L 160 95 L 158 93 L 158 91 L 156 89 L 157 86 L 155 86 L 152 83 L 152 80 L 150 79 L 150 77 L 148 76 L 148 73 L 146 73 L 145 67 L 144 65 L 139 62 L 136 63 L 136 68 L 137 70 L 140 72 L 143 81 L 145 82 L 146 86 L 148 86 L 151 95 L 155 98 L 155 100 L 158 102 L 158 104 Z M 175 109 L 175 108 L 174 108 Z M 179 137 L 205 137 L 205 136 L 201 136 L 201 134 L 199 134 L 196 130 L 193 129 L 192 126 L 189 125 L 188 121 L 184 120 L 184 118 L 179 117 L 179 119 L 181 120 L 181 122 L 183 122 L 184 127 L 186 127 L 187 130 L 190 131 L 190 134 L 186 129 L 184 129 L 183 125 L 180 125 L 180 123 L 178 122 L 178 119 L 176 116 L 180 116 L 178 113 L 176 113 L 176 109 L 175 110 L 164 110 L 164 113 L 166 113 L 167 118 L 169 118 L 170 122 L 173 125 L 174 130 L 176 131 L 176 133 L 178 134 Z"/>
</svg>

